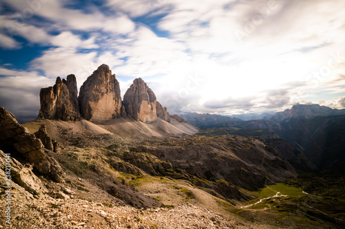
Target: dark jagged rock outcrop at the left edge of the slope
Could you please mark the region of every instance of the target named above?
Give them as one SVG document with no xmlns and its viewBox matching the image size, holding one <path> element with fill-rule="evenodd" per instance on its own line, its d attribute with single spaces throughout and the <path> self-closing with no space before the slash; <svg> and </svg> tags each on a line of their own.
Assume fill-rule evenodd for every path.
<svg viewBox="0 0 345 229">
<path fill-rule="evenodd" d="M 43 151 L 41 140 L 30 134 L 14 118 L 13 114 L 0 107 L 0 149 L 10 153 L 20 162 L 32 164 L 34 171 L 47 175 L 57 182 L 62 180 L 62 168 Z"/>
</svg>

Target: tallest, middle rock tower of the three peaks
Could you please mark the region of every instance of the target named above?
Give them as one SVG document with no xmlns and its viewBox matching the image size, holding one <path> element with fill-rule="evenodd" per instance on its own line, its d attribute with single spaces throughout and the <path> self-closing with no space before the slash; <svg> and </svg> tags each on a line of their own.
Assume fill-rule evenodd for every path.
<svg viewBox="0 0 345 229">
<path fill-rule="evenodd" d="M 121 115 L 119 82 L 108 65 L 101 65 L 80 88 L 81 116 L 91 122 L 110 120 Z"/>
</svg>

